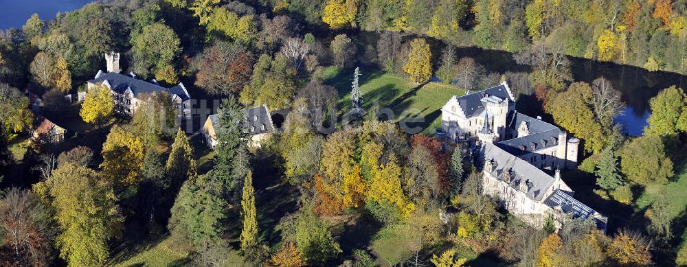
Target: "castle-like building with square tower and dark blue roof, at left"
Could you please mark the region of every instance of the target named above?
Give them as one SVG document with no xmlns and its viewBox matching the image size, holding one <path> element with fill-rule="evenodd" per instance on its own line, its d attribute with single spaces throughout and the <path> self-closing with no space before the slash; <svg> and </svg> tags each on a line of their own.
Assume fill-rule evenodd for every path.
<svg viewBox="0 0 687 267">
<path fill-rule="evenodd" d="M 156 80 L 150 82 L 139 80 L 132 72 L 129 75 L 120 73 L 120 54 L 107 53 L 105 54 L 105 61 L 107 72 L 98 71 L 93 80 L 86 82 L 87 91 L 90 91 L 95 86 L 104 84 L 112 91 L 115 100 L 115 111 L 124 115 L 133 115 L 136 109 L 145 102 L 144 95 L 155 92 L 167 92 L 172 97 L 172 103 L 176 106 L 179 114 L 183 117 L 191 116 L 191 96 L 186 91 L 185 86 L 181 82 L 172 88 L 164 88 L 157 84 Z"/>
</svg>

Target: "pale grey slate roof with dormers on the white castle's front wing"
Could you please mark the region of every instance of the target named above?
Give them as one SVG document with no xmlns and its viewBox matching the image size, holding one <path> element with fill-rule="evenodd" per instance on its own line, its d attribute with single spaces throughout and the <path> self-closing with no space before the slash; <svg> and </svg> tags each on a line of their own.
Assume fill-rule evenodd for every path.
<svg viewBox="0 0 687 267">
<path fill-rule="evenodd" d="M 492 170 L 486 171 L 499 179 L 504 173 L 510 172 L 512 187 L 518 188 L 519 183 L 527 181 L 527 196 L 537 201 L 543 199 L 544 193 L 554 183 L 552 176 L 491 143 L 484 144 L 484 160 L 492 161 Z"/>
</svg>

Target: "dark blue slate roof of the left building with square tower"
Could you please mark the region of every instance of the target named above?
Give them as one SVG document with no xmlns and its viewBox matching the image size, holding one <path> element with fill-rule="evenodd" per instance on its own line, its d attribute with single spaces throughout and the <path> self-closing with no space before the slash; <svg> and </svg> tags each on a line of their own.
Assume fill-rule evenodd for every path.
<svg viewBox="0 0 687 267">
<path fill-rule="evenodd" d="M 170 94 L 179 96 L 181 100 L 190 99 L 188 91 L 186 91 L 185 87 L 181 83 L 170 89 L 166 89 L 162 86 L 159 86 L 158 84 L 146 82 L 144 80 L 139 80 L 137 78 L 126 76 L 122 73 L 117 72 L 104 73 L 102 71 L 98 71 L 98 74 L 95 75 L 95 79 L 89 80 L 88 82 L 93 84 L 107 82 L 107 84 L 110 85 L 110 88 L 117 93 L 124 93 L 126 89 L 131 89 L 134 97 L 138 97 L 139 95 L 144 93 L 168 91 Z"/>
</svg>

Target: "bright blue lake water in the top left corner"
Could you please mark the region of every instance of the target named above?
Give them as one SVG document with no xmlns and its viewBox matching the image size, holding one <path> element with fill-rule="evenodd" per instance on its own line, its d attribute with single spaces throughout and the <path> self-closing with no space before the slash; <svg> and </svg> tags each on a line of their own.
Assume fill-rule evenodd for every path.
<svg viewBox="0 0 687 267">
<path fill-rule="evenodd" d="M 0 29 L 21 28 L 37 13 L 43 21 L 55 19 L 57 12 L 78 10 L 89 0 L 0 0 Z"/>
</svg>

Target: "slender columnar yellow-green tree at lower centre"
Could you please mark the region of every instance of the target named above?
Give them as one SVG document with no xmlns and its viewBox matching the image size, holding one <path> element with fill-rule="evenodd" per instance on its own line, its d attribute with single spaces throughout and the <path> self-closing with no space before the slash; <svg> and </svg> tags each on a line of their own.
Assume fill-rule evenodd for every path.
<svg viewBox="0 0 687 267">
<path fill-rule="evenodd" d="M 248 171 L 243 181 L 243 196 L 241 197 L 243 212 L 243 230 L 241 231 L 241 249 L 246 251 L 258 244 L 258 221 L 256 220 L 256 197 L 253 188 L 253 174 Z"/>
</svg>

